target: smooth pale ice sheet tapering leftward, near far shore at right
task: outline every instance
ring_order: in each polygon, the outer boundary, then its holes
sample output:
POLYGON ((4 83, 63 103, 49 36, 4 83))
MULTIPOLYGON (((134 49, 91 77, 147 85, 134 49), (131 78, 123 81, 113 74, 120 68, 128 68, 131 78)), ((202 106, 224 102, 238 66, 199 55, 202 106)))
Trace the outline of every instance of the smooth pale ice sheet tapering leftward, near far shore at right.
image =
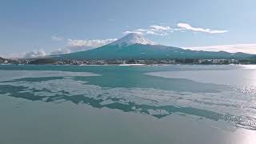
POLYGON ((161 78, 185 78, 196 82, 256 87, 256 70, 160 71, 146 74, 161 78))

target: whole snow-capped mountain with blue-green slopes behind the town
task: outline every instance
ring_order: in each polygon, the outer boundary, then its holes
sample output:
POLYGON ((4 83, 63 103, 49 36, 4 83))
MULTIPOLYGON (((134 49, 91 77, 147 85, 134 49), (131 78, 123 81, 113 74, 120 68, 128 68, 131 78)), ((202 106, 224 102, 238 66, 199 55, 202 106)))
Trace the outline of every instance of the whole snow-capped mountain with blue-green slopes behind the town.
POLYGON ((93 50, 55 55, 59 59, 114 60, 114 59, 163 59, 163 58, 250 58, 252 54, 228 53, 225 51, 185 50, 179 47, 162 46, 143 38, 140 34, 127 34, 115 42, 93 50))

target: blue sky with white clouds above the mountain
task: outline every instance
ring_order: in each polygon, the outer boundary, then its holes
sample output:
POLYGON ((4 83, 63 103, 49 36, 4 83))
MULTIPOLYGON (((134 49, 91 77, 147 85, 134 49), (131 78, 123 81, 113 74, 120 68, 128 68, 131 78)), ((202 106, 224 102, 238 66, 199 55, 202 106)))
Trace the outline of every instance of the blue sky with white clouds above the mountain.
POLYGON ((167 46, 256 53, 255 6, 254 0, 0 0, 0 55, 70 52, 142 30, 167 46))

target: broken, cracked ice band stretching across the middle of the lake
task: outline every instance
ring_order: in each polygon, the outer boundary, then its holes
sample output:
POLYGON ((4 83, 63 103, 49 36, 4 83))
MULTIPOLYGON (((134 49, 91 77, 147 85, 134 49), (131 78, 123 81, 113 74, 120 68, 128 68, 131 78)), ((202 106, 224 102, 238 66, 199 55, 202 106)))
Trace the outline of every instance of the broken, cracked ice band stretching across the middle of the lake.
MULTIPOLYGON (((40 72, 35 72, 34 75, 36 74, 40 72)), ((53 73, 46 72, 45 76, 48 74, 52 76, 53 73)), ((55 75, 64 74, 57 72, 55 75)), ((13 97, 44 102, 86 103, 98 108, 109 107, 150 114, 157 118, 181 112, 214 120, 226 120, 240 127, 256 129, 256 99, 251 94, 236 90, 204 94, 138 87, 110 88, 90 85, 70 78, 70 75, 78 74, 66 73, 68 78, 41 79, 38 82, 22 78, 13 82, 0 82, 0 87, 3 88, 0 89, 0 94, 10 93, 13 97)))

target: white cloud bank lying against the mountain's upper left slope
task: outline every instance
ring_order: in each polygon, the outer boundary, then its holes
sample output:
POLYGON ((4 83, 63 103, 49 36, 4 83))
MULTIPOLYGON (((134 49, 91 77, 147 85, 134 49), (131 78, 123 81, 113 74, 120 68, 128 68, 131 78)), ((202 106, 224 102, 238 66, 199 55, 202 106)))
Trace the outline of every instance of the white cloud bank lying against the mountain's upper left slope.
POLYGON ((91 39, 91 40, 83 40, 83 39, 68 39, 67 46, 58 49, 56 51, 51 52, 51 54, 69 54, 78 51, 91 50, 100 46, 104 46, 109 44, 110 42, 116 41, 116 38, 109 39, 91 39))

